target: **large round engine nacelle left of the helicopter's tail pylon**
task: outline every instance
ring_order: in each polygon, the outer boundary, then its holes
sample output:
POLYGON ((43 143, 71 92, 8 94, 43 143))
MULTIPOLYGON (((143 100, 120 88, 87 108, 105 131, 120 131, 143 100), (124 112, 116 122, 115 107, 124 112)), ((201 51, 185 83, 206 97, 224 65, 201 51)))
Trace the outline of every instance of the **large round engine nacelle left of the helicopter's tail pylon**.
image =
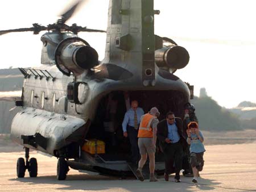
POLYGON ((98 65, 98 53, 85 40, 68 37, 57 45, 55 63, 63 74, 78 76, 98 65))

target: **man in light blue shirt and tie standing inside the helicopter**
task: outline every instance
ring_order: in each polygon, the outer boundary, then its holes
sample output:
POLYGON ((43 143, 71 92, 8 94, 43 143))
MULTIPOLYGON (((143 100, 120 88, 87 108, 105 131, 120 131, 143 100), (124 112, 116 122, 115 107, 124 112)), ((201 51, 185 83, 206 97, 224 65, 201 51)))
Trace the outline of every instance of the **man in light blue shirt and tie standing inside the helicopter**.
POLYGON ((139 148, 138 148, 138 128, 141 122, 141 116, 144 111, 138 107, 138 101, 131 102, 131 108, 125 113, 123 119, 123 136, 129 137, 131 143, 131 162, 136 164, 139 161, 139 148))

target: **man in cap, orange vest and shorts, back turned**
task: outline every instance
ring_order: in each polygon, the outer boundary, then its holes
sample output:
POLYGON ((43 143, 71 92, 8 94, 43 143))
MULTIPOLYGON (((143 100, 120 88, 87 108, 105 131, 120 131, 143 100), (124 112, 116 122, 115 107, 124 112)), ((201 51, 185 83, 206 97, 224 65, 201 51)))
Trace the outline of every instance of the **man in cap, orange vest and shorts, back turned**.
POLYGON ((141 116, 141 123, 139 124, 138 132, 138 146, 139 153, 141 153, 141 160, 139 160, 136 174, 140 181, 144 181, 142 175, 142 168, 147 161, 147 154, 150 159, 150 181, 158 181, 155 178, 155 143, 156 143, 156 127, 159 122, 158 116, 160 112, 158 108, 151 108, 150 112, 141 116))

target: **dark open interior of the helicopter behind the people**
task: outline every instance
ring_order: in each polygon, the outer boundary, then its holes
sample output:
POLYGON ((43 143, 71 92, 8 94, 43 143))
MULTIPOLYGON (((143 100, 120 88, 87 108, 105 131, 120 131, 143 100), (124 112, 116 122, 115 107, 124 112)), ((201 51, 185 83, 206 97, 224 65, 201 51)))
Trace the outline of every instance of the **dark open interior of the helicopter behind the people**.
MULTIPOLYGON (((183 93, 174 90, 112 91, 105 95, 98 104, 96 116, 86 135, 86 139, 105 142, 105 154, 100 155, 105 160, 129 161, 130 142, 128 138, 123 137, 122 121, 128 108, 127 103, 130 104, 134 100, 138 101, 138 107, 143 108, 144 113, 152 107, 157 107, 160 112, 159 120, 166 118, 168 111, 173 111, 175 116, 181 117, 184 103, 187 102, 183 93)), ((160 161, 160 158, 160 155, 159 158, 156 155, 156 161, 160 161)))

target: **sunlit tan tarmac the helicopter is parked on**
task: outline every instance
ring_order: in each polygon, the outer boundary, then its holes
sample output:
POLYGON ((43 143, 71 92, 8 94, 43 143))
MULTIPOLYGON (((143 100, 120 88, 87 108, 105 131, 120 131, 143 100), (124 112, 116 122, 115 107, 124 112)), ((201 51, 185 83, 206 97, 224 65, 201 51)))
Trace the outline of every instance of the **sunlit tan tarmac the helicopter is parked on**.
POLYGON ((256 143, 207 145, 205 166, 197 185, 181 176, 181 183, 144 182, 127 178, 105 177, 68 172, 67 180, 56 179, 57 159, 31 152, 38 160, 38 177, 16 177, 16 160, 24 152, 0 152, 0 191, 256 191, 256 143))

